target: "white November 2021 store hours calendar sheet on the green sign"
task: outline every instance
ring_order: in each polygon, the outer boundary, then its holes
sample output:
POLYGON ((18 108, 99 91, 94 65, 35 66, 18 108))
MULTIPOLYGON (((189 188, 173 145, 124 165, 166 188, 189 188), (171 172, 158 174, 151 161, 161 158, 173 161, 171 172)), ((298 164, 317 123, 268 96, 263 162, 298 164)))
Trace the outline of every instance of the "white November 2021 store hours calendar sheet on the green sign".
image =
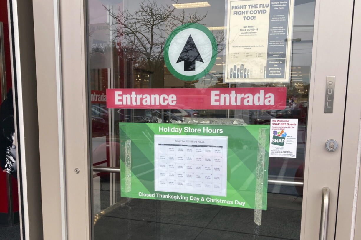
POLYGON ((224 136, 154 135, 155 191, 226 196, 224 136))

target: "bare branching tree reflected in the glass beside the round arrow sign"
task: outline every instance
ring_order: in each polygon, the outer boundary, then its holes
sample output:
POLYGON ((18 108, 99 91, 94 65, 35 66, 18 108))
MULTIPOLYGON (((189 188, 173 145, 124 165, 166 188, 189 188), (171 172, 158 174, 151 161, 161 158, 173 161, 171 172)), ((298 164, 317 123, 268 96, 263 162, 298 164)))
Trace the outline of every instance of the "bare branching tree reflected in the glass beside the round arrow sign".
MULTIPOLYGON (((177 3, 177 1, 173 1, 177 3)), ((106 8, 106 7, 105 7, 106 8)), ((135 11, 106 8, 112 17, 114 41, 117 41, 120 57, 134 61, 134 67, 149 74, 150 87, 164 87, 165 41, 176 27, 184 23, 200 23, 207 13, 201 15, 195 10, 176 13, 172 5, 158 6, 155 0, 142 1, 135 11)), ((223 32, 216 34, 217 42, 223 43, 223 32)), ((218 44, 221 48, 221 45, 218 44)), ((221 49, 219 49, 221 51, 221 49)))

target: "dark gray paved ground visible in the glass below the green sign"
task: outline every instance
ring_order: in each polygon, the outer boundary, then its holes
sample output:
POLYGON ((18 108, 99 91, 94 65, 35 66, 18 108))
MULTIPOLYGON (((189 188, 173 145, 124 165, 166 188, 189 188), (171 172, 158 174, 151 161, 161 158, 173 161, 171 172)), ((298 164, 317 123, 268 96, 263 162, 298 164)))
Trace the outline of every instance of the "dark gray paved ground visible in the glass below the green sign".
POLYGON ((300 238, 301 197, 268 194, 262 225, 253 209, 122 199, 100 214, 95 240, 297 240, 300 238))

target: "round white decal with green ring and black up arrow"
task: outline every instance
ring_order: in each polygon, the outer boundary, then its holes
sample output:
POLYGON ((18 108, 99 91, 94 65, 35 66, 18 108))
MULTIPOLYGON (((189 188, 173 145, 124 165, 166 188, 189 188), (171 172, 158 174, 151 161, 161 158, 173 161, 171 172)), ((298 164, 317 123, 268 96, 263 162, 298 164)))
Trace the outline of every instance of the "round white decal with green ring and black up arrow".
POLYGON ((177 27, 165 42, 164 61, 178 79, 193 81, 208 74, 217 58, 217 41, 199 23, 177 27))

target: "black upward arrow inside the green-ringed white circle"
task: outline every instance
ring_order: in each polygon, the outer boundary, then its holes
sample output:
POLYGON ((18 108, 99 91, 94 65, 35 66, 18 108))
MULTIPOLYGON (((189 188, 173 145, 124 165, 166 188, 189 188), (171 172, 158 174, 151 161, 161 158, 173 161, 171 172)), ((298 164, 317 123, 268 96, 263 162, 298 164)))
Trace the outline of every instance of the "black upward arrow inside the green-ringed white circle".
POLYGON ((186 44, 179 55, 177 63, 184 61, 184 71, 195 71, 196 61, 203 62, 201 54, 199 53, 196 44, 194 43, 192 36, 189 35, 186 44))

